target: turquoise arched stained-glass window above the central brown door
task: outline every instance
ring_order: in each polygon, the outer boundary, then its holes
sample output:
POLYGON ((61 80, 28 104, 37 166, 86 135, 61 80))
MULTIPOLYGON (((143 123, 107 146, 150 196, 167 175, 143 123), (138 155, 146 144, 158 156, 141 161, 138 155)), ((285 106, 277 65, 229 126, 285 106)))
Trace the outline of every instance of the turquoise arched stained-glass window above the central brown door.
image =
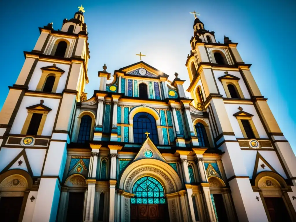
POLYGON ((165 204, 165 192, 163 186, 150 176, 140 178, 133 185, 132 204, 165 204))

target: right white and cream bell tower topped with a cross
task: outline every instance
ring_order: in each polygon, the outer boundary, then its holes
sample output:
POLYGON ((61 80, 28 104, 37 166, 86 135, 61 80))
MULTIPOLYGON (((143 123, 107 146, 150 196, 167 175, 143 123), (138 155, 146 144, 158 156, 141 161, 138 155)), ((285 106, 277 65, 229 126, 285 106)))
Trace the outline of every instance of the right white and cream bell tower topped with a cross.
MULTIPOLYGON (((192 14, 187 91, 194 106, 208 113, 215 148, 224 152, 222 162, 239 221, 268 221, 264 195, 254 189, 260 170, 251 169, 250 163, 256 153, 270 157, 269 164, 279 163, 274 171, 295 190, 295 155, 251 74, 251 64, 240 57, 238 43, 226 36, 217 42, 214 32, 205 29, 196 12, 192 14)), ((293 200, 287 197, 287 202, 293 200)))

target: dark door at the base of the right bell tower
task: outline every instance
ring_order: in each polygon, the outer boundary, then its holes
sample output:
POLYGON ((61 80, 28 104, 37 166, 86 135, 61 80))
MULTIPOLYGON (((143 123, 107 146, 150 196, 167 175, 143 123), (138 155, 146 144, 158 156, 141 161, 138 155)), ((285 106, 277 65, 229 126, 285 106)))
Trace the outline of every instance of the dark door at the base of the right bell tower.
POLYGON ((272 222, 291 221, 282 197, 264 197, 264 200, 272 222))

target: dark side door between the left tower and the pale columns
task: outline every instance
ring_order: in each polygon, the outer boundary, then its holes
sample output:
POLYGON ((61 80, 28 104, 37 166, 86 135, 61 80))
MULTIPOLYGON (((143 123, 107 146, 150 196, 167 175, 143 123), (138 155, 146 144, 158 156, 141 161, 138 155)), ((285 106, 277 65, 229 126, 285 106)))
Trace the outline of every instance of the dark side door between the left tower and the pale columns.
POLYGON ((70 192, 66 222, 81 222, 83 220, 84 192, 70 192))

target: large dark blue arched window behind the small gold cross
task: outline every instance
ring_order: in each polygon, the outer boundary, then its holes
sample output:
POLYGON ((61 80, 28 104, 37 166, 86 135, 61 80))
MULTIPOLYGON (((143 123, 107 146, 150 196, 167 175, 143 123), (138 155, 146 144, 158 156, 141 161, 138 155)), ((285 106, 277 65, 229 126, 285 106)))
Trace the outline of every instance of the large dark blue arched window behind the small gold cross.
POLYGON ((145 132, 150 133, 149 138, 158 144, 156 122, 154 117, 147 112, 138 112, 133 117, 133 142, 143 143, 146 140, 145 132))

